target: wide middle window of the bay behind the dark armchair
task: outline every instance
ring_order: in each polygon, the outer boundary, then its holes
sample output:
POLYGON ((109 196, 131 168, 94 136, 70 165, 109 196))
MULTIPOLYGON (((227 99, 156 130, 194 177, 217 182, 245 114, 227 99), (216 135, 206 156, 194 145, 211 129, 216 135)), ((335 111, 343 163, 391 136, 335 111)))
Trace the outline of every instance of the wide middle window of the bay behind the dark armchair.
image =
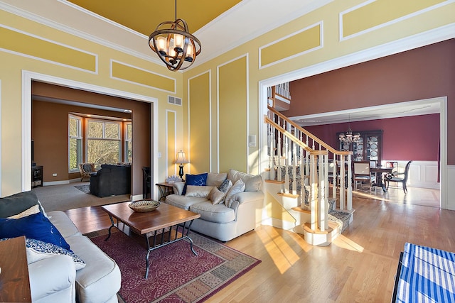
POLYGON ((121 122, 87 120, 87 162, 100 167, 117 163, 122 158, 121 122))

